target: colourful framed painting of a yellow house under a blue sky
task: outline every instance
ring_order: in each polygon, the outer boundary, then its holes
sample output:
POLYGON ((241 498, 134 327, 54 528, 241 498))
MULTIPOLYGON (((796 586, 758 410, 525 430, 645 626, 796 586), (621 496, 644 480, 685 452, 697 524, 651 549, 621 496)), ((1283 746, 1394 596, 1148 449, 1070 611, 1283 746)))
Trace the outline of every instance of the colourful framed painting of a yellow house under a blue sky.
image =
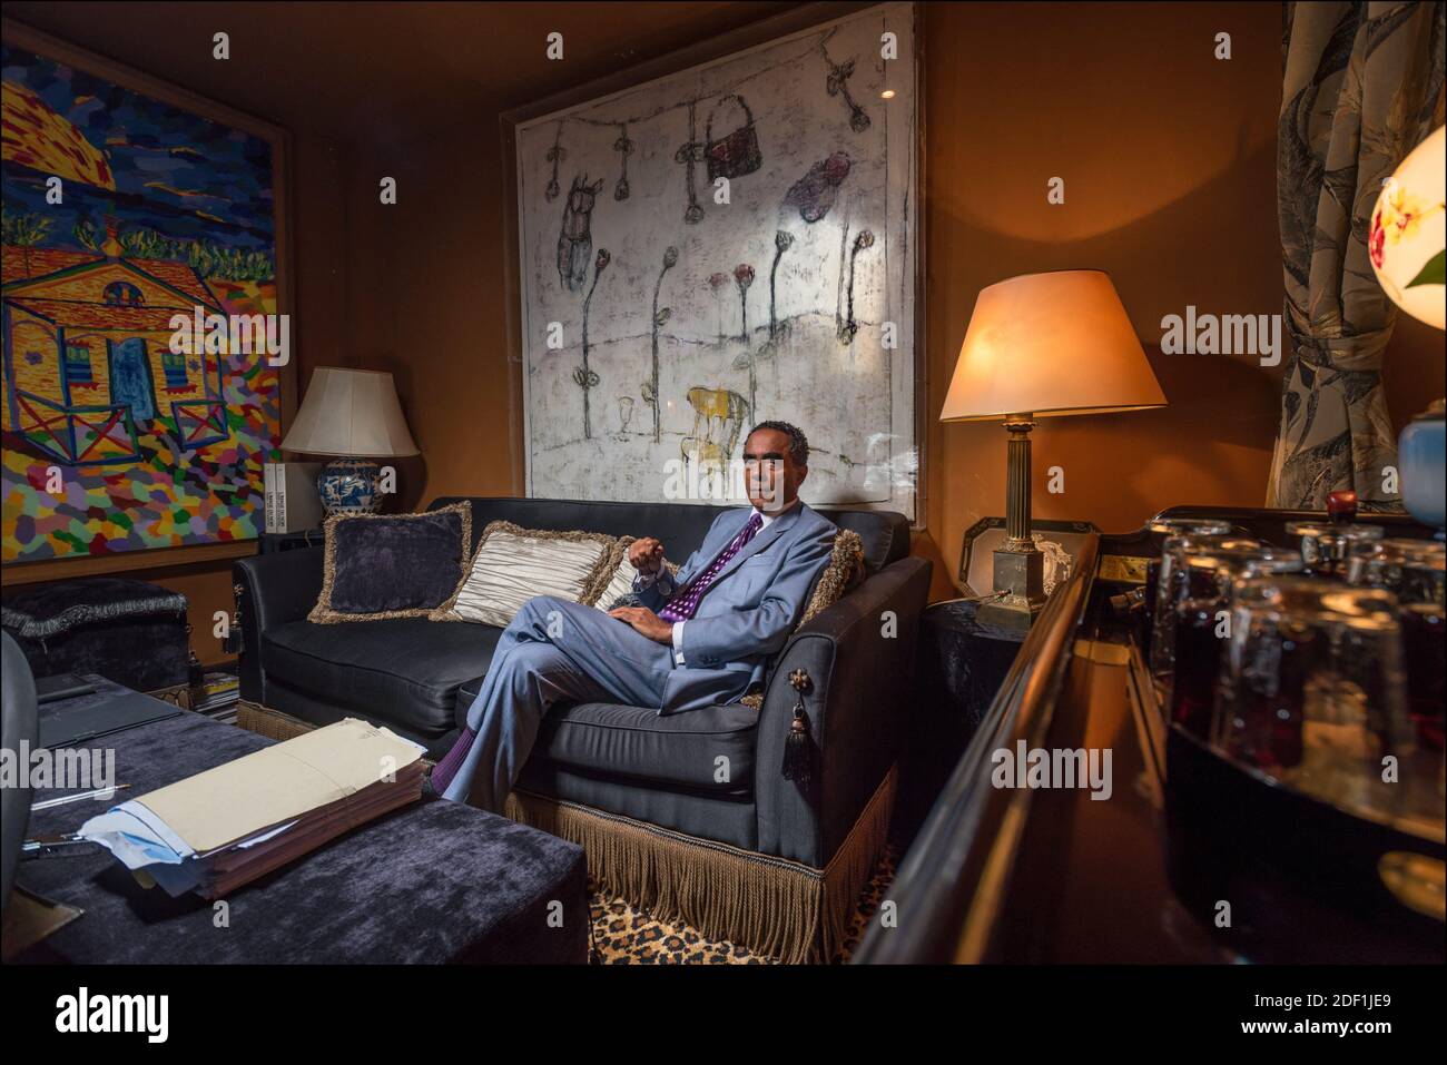
POLYGON ((255 538, 284 133, 13 23, 0 77, 4 561, 255 538))

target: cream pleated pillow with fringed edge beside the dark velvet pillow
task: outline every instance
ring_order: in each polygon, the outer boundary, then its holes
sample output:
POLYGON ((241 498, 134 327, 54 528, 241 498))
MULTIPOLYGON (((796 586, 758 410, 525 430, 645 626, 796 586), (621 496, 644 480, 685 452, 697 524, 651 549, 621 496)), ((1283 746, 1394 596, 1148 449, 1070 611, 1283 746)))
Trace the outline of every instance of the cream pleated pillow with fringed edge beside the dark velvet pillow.
POLYGON ((618 538, 602 532, 560 532, 492 521, 451 598, 428 616, 505 628, 535 595, 592 606, 622 553, 618 538))

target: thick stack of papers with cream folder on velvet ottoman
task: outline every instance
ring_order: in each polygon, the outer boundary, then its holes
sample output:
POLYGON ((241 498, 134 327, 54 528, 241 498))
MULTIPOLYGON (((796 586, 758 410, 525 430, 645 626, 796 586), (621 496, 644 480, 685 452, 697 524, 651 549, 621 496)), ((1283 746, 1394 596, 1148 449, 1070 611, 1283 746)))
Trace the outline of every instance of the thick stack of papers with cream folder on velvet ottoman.
POLYGON ((218 899, 421 799, 423 751, 347 718, 114 806, 77 835, 148 887, 218 899))

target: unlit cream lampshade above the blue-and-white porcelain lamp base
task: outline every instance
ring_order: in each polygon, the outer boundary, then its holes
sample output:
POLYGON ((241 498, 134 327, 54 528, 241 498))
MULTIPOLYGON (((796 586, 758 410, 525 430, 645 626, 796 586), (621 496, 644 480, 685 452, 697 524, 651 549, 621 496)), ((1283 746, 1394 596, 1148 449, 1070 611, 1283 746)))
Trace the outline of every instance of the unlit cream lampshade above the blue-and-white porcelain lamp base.
POLYGON ((391 373, 318 366, 284 451, 392 459, 417 454, 391 373))

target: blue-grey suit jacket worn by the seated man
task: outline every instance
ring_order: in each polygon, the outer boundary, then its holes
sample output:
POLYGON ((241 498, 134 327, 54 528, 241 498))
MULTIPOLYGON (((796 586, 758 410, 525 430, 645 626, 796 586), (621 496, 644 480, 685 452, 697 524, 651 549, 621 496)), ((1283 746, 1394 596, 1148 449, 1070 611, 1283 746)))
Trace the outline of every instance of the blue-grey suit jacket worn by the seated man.
MULTIPOLYGON (((708 569, 752 514, 739 506, 715 518, 703 544, 670 576, 634 582, 638 601, 660 611, 708 569)), ((666 682, 661 713, 737 702, 803 616, 809 592, 833 551, 838 527, 803 501, 768 522, 725 566, 683 628, 683 658, 666 682)))

